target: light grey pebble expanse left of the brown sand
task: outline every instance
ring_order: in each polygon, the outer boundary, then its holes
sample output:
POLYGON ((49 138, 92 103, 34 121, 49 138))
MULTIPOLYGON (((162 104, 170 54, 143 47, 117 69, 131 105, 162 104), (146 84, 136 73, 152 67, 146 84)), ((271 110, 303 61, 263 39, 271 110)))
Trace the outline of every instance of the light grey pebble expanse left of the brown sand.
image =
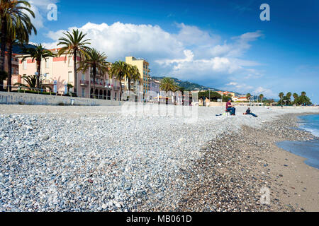
MULTIPOLYGON (((26 112, 32 108, 23 106, 26 112)), ((261 108, 257 119, 215 117, 220 109, 200 107, 198 122, 185 124, 182 117, 123 116, 110 107, 60 109, 0 115, 0 211, 179 210, 193 183, 205 178, 225 195, 213 206, 207 199, 201 205, 221 210, 228 198, 240 200, 250 191, 234 195, 242 183, 218 174, 227 173, 238 155, 232 146, 218 145, 216 137, 243 124, 261 126, 259 119, 270 121, 279 114, 261 108), (95 109, 99 112, 90 112, 95 109), (213 161, 198 162, 206 157, 213 161), (205 174, 206 167, 216 171, 205 174)), ((239 173, 252 171, 241 167, 239 173)))

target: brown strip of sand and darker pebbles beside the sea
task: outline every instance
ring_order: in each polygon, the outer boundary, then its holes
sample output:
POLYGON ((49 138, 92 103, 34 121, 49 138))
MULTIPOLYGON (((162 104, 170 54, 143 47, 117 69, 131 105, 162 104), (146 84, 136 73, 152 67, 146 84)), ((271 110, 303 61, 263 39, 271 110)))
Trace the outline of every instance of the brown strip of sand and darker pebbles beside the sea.
POLYGON ((193 169, 191 189, 177 210, 319 211, 319 169, 276 145, 316 138, 291 128, 298 126, 299 115, 306 114, 285 114, 259 129, 242 126, 239 132, 223 135, 230 138, 226 145, 223 136, 208 142, 205 157, 193 169), (270 190, 269 205, 260 204, 262 187, 270 190))

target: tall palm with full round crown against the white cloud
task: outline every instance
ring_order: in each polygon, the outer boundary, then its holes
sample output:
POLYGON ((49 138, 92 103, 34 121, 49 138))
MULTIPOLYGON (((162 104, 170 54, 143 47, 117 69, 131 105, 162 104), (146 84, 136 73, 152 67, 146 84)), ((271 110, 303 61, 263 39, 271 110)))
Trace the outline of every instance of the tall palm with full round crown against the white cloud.
MULTIPOLYGON (((91 43, 88 42, 90 39, 84 39, 86 34, 79 32, 79 30, 72 30, 72 34, 70 32, 64 32, 63 34, 65 37, 60 37, 59 43, 57 44, 62 45, 62 48, 57 54, 60 57, 67 52, 69 57, 73 56, 74 93, 77 93, 77 54, 79 54, 80 60, 84 58, 91 49, 86 45, 91 43)), ((65 55, 65 60, 66 59, 67 55, 65 55)))

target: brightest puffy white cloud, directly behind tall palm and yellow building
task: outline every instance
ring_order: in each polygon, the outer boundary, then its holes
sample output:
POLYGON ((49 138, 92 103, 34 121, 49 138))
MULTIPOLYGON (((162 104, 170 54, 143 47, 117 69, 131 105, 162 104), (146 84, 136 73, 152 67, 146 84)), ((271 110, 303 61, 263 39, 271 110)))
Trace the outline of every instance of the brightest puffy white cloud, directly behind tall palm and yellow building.
MULTIPOLYGON (((165 32, 157 25, 134 25, 130 23, 86 23, 79 28, 91 39, 91 46, 105 52, 108 59, 116 61, 132 54, 136 57, 161 59, 166 56, 184 56, 183 43, 174 35, 165 32)), ((47 47, 56 47, 59 37, 65 30, 49 32, 48 37, 55 42, 45 43, 47 47)))

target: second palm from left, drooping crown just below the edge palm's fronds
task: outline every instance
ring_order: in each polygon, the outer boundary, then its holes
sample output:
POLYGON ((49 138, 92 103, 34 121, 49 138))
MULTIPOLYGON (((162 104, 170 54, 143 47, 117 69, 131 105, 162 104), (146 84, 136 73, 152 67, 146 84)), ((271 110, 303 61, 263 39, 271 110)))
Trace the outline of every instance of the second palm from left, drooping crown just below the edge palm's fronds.
MULTIPOLYGON (((6 44, 8 46, 8 59, 12 58, 12 48, 14 45, 21 45, 23 47, 24 44, 28 44, 29 35, 31 35, 32 31, 36 34, 36 29, 32 23, 23 24, 17 23, 16 25, 7 26, 8 32, 6 35, 6 44)), ((12 61, 8 60, 8 80, 7 87, 8 90, 11 91, 11 77, 12 77, 12 61)))

